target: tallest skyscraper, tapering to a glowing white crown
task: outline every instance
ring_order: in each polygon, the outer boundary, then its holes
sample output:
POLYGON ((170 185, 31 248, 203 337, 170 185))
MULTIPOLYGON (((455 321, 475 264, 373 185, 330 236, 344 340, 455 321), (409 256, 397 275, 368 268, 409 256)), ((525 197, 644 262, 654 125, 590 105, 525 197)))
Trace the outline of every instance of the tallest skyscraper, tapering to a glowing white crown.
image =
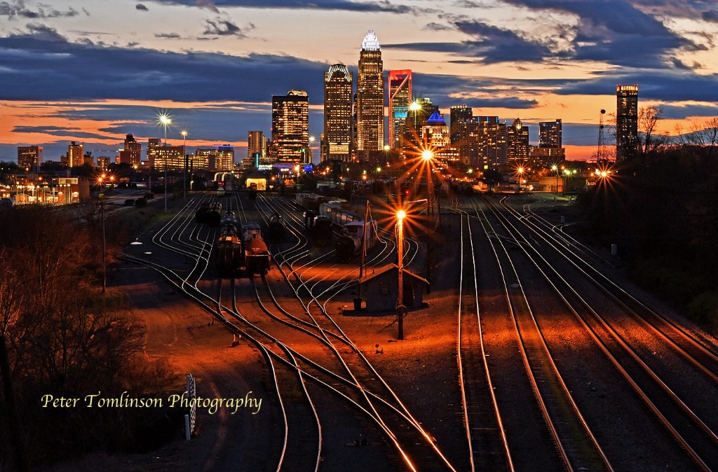
POLYGON ((366 161, 384 149, 384 76, 379 40, 368 31, 359 52, 356 98, 357 156, 366 161))

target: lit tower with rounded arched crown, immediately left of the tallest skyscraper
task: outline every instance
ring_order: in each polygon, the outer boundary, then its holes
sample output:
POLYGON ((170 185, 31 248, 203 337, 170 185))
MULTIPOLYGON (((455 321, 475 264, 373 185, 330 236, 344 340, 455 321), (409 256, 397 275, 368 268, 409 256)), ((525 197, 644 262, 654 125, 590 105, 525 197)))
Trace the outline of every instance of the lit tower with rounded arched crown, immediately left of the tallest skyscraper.
POLYGON ((335 64, 324 73, 322 161, 350 161, 352 141, 352 73, 335 64))

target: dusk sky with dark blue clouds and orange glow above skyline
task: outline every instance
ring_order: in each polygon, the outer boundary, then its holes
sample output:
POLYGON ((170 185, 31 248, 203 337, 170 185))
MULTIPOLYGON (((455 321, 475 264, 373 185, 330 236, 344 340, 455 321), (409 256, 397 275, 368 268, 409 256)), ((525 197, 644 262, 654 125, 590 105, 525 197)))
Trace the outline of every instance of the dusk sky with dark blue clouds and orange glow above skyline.
MULTIPOLYGON (((368 29, 384 70, 411 69, 414 95, 446 118, 515 118, 538 141, 561 118, 569 159, 595 153, 600 110, 617 84, 663 107, 660 133, 718 115, 718 2, 693 0, 10 0, 0 1, 0 160, 70 141, 115 156, 126 133, 146 148, 271 136, 271 95, 306 90, 309 133, 322 133, 323 80, 348 65, 356 82, 368 29)), ((606 120, 610 118, 606 115, 606 120)), ((318 144, 315 156, 318 155, 318 144)))

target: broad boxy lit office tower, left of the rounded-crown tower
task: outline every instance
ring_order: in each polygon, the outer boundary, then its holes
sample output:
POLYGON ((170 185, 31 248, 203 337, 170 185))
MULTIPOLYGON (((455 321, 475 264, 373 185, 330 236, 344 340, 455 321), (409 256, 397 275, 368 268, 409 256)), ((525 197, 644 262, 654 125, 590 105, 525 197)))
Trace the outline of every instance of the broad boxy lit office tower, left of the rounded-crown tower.
POLYGON ((309 98, 304 90, 272 95, 271 141, 277 161, 308 162, 309 98))

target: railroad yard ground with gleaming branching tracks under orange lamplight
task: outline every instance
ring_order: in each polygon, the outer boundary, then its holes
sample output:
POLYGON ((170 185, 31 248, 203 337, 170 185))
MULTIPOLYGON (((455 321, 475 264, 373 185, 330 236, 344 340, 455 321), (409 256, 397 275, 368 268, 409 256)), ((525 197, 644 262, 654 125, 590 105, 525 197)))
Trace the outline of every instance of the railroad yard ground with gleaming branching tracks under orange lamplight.
POLYGON ((569 204, 442 197, 440 212, 409 212, 398 258, 393 210, 371 201, 376 241, 360 269, 360 255, 337 255, 342 227, 307 229, 294 198, 173 202, 123 248, 108 286, 143 316, 148 357, 192 373, 200 397, 242 407, 198 407, 189 442, 86 467, 718 470, 716 339, 575 240, 569 204), (211 204, 215 222, 197 216, 211 204), (264 235, 248 235, 251 222, 264 235), (430 283, 403 340, 396 314, 358 288, 360 270, 398 260, 404 278, 430 283))

